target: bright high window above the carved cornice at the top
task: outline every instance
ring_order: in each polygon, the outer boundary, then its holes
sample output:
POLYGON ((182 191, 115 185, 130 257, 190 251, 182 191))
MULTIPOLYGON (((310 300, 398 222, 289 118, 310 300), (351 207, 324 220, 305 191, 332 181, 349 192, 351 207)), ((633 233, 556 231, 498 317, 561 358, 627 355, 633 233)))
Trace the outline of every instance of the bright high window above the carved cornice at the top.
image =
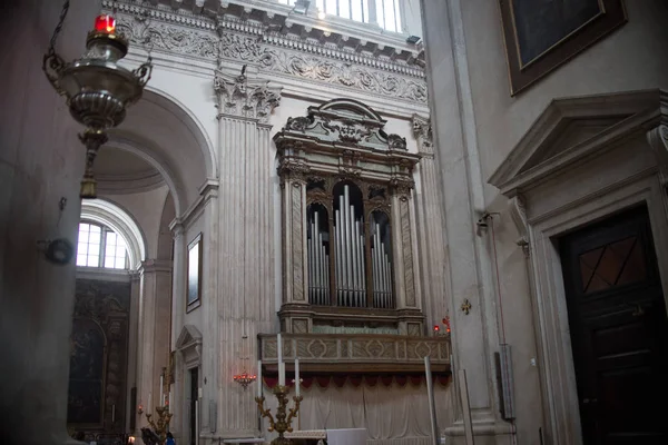
MULTIPOLYGON (((376 22, 381 28, 392 32, 402 32, 401 0, 316 0, 318 11, 327 16, 338 16, 344 19, 363 23, 376 22)), ((278 0, 284 4, 294 6, 296 0, 278 0)))

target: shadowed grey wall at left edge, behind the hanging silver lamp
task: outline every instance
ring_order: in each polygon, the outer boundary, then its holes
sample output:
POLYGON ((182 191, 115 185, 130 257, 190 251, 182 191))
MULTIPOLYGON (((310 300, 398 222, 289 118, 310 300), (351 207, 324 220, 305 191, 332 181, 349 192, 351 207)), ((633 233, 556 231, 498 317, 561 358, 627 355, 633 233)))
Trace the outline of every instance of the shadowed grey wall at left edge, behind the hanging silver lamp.
MULTIPOLYGON (((2 7, 0 50, 0 436, 3 444, 65 443, 73 261, 48 263, 37 241, 76 246, 85 149, 41 70, 61 2, 2 7), (59 214, 58 202, 67 207, 59 214)), ((99 1, 73 0, 58 43, 81 55, 99 1)))

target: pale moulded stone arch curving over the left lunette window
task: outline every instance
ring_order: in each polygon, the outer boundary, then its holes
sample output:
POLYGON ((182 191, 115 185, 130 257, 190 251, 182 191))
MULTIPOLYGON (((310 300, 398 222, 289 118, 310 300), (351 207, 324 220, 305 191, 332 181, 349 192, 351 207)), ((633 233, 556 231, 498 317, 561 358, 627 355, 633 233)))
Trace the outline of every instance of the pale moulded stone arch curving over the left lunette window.
POLYGON ((137 270, 146 259, 146 238, 139 225, 124 209, 105 199, 84 199, 81 219, 91 220, 111 228, 126 243, 130 269, 137 270))

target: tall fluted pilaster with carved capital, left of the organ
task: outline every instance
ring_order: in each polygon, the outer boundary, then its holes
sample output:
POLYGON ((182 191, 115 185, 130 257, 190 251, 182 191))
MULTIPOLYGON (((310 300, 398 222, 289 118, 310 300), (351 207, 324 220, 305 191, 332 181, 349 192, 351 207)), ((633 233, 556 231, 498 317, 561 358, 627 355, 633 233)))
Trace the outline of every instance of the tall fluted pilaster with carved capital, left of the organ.
MULTIPOLYGON (((215 76, 218 106, 220 186, 216 322, 214 342, 220 364, 217 383, 204 385, 204 397, 217 399, 216 437, 252 437, 257 432, 254 387, 244 389, 233 376, 246 368, 256 372, 257 334, 268 333, 275 317, 274 227, 272 184, 275 152, 268 119, 278 106, 281 89, 257 78, 218 70, 215 76), (214 394, 217 393, 217 394, 214 394)), ((209 323, 213 323, 209 320, 209 323)), ((255 384, 254 384, 255 385, 255 384)), ((216 441, 217 443, 217 441, 216 441)))

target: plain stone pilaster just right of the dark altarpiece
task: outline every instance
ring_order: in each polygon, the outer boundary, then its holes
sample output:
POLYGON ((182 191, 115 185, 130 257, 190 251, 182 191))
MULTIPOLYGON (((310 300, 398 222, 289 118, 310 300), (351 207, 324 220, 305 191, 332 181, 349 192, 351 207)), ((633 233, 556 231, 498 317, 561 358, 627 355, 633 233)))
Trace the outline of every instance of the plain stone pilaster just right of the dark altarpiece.
MULTIPOLYGON (((160 406, 160 374, 169 360, 169 323, 171 312, 171 261, 148 259, 141 263, 139 342, 137 345, 137 399, 145 413, 160 406), (149 399, 153 406, 149 406, 149 399)), ((140 417, 137 429, 146 426, 140 417)))

